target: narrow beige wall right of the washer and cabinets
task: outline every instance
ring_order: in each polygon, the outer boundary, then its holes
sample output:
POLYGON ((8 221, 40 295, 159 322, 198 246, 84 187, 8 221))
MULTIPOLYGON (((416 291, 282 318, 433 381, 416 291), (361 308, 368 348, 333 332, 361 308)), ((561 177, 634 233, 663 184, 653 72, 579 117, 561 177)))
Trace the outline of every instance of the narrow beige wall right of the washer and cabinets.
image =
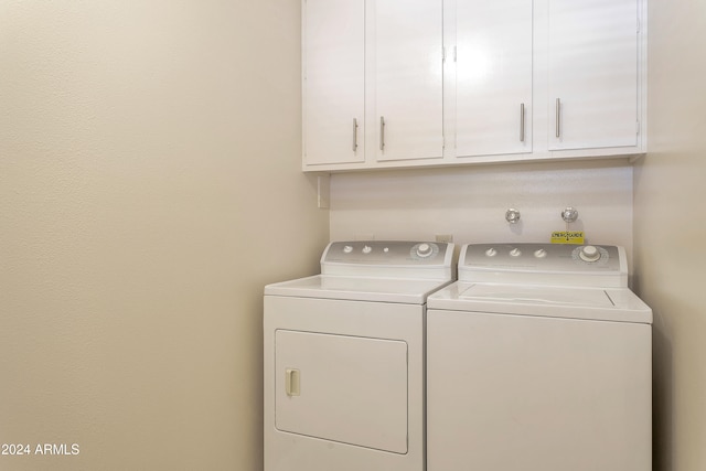
POLYGON ((635 165, 635 288, 654 310, 655 470, 706 469, 706 6, 650 3, 650 152, 635 165))

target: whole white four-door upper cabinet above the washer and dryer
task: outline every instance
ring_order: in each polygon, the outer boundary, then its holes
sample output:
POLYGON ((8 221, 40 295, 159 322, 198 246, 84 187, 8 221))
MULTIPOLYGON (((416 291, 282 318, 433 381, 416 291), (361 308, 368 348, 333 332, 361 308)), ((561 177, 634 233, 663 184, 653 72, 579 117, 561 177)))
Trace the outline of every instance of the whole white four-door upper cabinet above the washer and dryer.
POLYGON ((648 0, 302 0, 303 169, 646 151, 648 0))

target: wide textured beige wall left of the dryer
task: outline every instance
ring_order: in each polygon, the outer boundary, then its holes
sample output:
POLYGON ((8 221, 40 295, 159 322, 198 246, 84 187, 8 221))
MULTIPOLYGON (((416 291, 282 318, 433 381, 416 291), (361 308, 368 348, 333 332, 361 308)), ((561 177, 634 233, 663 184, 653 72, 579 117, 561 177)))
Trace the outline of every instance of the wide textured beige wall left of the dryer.
POLYGON ((297 1, 0 1, 0 456, 261 469, 261 290, 328 242, 297 1), (297 250, 295 250, 295 248, 297 250))

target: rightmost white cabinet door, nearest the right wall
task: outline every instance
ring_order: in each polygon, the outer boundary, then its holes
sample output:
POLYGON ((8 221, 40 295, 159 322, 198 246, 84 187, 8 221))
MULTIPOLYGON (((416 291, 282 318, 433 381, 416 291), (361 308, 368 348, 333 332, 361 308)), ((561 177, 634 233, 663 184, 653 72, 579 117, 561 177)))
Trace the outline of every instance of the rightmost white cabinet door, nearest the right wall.
POLYGON ((549 149, 638 143, 638 0, 549 0, 549 149))

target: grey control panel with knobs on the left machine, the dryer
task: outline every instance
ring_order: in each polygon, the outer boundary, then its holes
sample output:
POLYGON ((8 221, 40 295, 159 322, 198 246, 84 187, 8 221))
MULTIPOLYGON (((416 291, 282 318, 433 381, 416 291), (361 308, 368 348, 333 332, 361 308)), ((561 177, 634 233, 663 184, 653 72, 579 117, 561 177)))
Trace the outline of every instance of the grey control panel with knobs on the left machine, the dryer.
POLYGON ((334 242, 330 244, 321 263, 397 266, 441 265, 447 259, 448 249, 449 244, 437 242, 334 242))

